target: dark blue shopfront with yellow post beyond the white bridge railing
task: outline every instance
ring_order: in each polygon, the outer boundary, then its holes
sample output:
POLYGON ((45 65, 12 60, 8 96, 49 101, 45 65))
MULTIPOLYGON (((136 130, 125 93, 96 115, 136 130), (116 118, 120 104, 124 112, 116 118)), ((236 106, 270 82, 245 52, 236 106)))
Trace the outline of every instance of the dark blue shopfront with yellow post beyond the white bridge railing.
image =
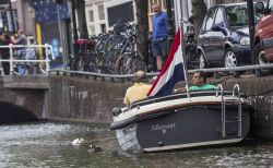
POLYGON ((39 44, 52 45, 54 60, 67 63, 70 51, 71 16, 69 3, 55 3, 54 0, 33 0, 36 32, 39 44))

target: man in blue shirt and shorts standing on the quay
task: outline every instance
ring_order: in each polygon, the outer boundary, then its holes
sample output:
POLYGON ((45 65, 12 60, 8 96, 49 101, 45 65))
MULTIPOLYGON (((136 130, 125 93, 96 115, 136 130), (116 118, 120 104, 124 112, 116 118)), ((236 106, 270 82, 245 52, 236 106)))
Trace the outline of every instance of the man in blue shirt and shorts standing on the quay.
POLYGON ((161 71, 163 62, 167 58, 167 13, 162 11, 158 3, 153 3, 152 9, 155 13, 153 16, 152 50, 153 56, 156 57, 157 71, 161 71))

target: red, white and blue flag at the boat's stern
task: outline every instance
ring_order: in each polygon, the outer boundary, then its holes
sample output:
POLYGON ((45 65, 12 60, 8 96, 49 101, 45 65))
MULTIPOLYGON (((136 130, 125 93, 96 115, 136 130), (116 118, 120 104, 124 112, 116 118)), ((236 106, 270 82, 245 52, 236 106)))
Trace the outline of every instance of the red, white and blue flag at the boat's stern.
POLYGON ((166 96, 173 93, 176 83, 185 80, 180 28, 178 29, 168 59, 147 96, 166 96))

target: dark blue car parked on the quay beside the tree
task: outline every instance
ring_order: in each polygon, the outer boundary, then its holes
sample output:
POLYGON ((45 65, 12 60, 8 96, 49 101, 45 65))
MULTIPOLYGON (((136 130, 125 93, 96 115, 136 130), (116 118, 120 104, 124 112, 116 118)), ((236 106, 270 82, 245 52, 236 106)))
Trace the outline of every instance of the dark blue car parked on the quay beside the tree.
MULTIPOLYGON (((256 21, 260 15, 256 15, 256 21)), ((229 3, 207 10, 198 36, 200 69, 233 68, 251 63, 247 3, 229 3)))

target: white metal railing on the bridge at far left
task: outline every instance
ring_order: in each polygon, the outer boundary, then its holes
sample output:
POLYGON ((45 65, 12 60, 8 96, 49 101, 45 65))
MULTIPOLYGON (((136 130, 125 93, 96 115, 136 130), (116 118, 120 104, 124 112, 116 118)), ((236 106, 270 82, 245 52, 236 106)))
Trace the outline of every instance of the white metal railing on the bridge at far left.
MULTIPOLYGON (((13 44, 10 44, 9 46, 0 46, 0 49, 2 48, 9 48, 10 50, 10 59, 0 59, 0 63, 2 62, 10 62, 10 75, 14 74, 14 65, 16 65, 16 63, 19 62, 24 62, 24 63, 31 63, 31 62, 34 62, 34 63, 45 63, 46 64, 46 73, 48 74, 49 72, 49 68, 50 68, 50 59, 49 59, 49 55, 54 57, 54 51, 52 51, 52 46, 51 45, 48 45, 48 44, 45 44, 45 45, 27 45, 27 46, 24 46, 24 45, 13 45, 13 44), (45 49, 45 58, 39 58, 39 55, 38 52, 36 52, 36 55, 38 56, 38 58, 36 59, 25 59, 25 58, 22 58, 22 59, 16 59, 17 57, 14 57, 16 56, 14 53, 15 50, 19 50, 19 49, 23 49, 25 48, 26 50, 29 49, 29 48, 44 48, 45 49)), ((1 67, 2 69, 2 67, 1 67)), ((3 71, 3 70, 1 70, 3 71)), ((2 72, 3 74, 3 72, 2 72)))

